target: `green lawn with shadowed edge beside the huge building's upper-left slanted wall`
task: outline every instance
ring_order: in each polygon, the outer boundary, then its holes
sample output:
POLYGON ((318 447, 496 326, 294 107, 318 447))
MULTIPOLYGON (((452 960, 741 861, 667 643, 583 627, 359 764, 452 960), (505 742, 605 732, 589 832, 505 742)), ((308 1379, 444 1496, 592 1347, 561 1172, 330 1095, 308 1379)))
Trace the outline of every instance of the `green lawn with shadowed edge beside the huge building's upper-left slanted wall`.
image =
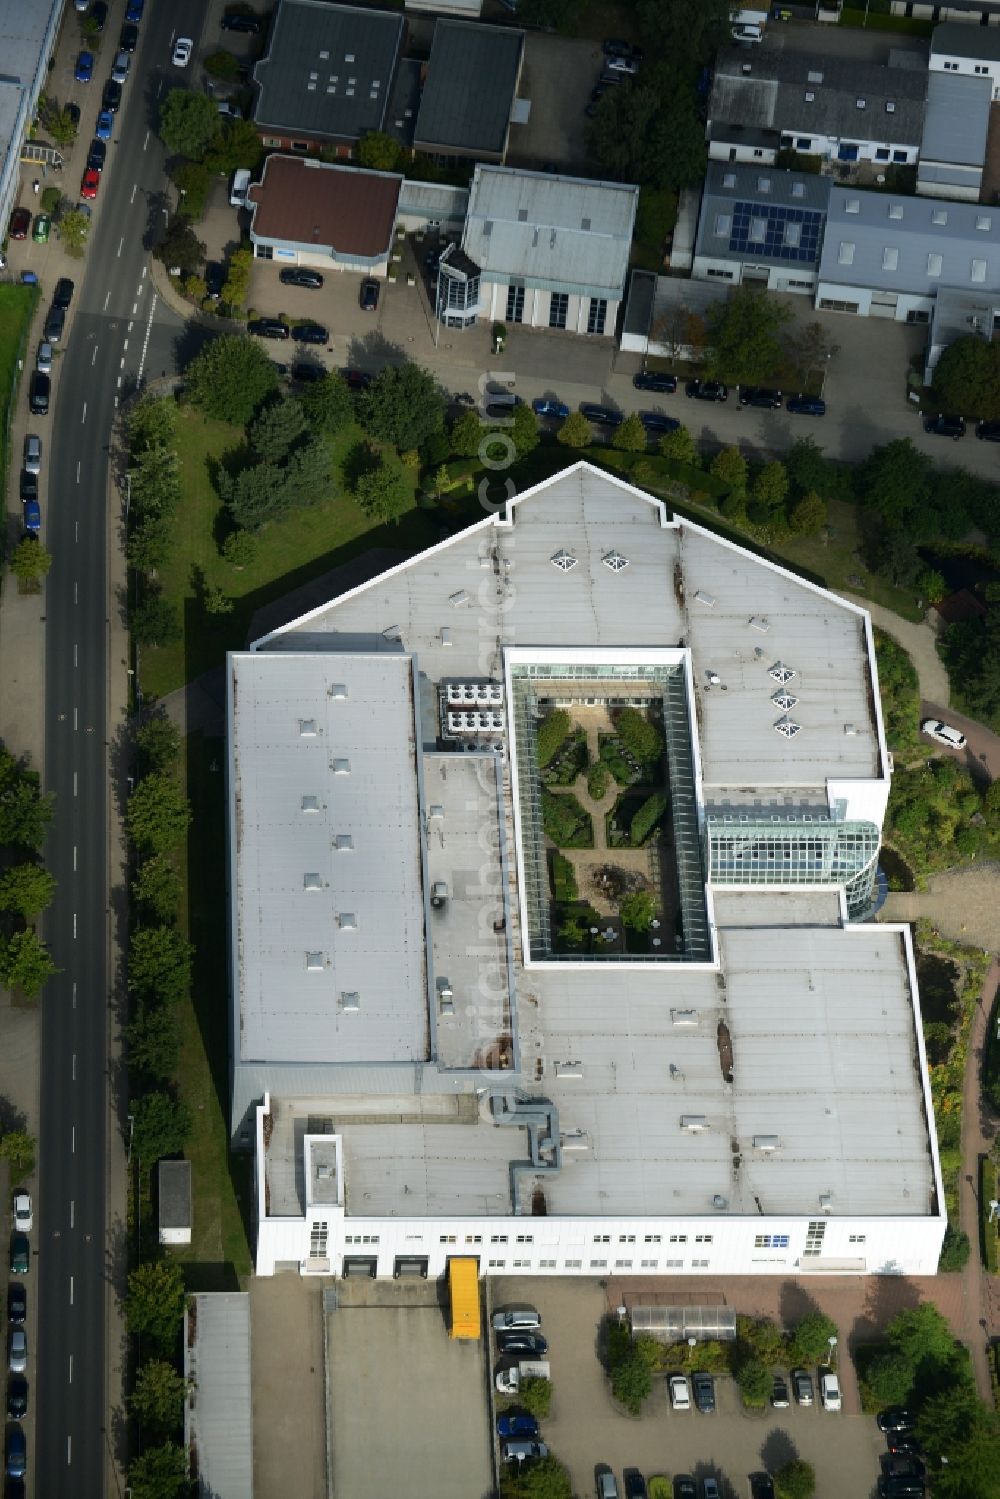
POLYGON ((214 465, 240 447, 243 433, 202 417, 192 406, 177 411, 183 501, 177 513, 174 552, 162 570, 163 594, 178 612, 183 636, 175 645, 142 649, 142 691, 163 697, 208 667, 220 666, 226 651, 246 645, 253 612, 291 589, 370 547, 418 552, 438 540, 441 517, 408 510, 397 525, 372 525, 354 501, 339 493, 339 469, 361 441, 351 429, 334 448, 334 498, 309 510, 292 511, 261 535, 255 561, 234 570, 219 552, 225 513, 211 484, 214 465), (208 615, 201 603, 205 586, 222 588, 235 603, 231 615, 208 615))

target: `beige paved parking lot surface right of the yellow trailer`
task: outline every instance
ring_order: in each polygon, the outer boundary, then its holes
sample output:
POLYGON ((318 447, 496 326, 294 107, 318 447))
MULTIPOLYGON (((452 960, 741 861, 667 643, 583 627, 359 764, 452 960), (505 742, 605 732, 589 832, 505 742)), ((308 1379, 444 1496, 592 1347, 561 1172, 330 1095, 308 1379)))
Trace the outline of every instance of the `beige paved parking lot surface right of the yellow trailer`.
POLYGON ((595 1492, 595 1471, 607 1465, 618 1475, 639 1468, 700 1480, 714 1475, 724 1499, 745 1499, 747 1478, 762 1468, 774 1472, 792 1457, 816 1469, 817 1499, 862 1499, 876 1493, 879 1454, 885 1441, 871 1417, 828 1414, 814 1405, 747 1414, 729 1378, 715 1382, 717 1411, 672 1412, 667 1382, 657 1376, 642 1417, 628 1417, 610 1397, 598 1360, 601 1319, 607 1303, 595 1282, 499 1280, 493 1303, 535 1306, 543 1316, 552 1364, 552 1417, 543 1439, 564 1462, 574 1493, 595 1492))

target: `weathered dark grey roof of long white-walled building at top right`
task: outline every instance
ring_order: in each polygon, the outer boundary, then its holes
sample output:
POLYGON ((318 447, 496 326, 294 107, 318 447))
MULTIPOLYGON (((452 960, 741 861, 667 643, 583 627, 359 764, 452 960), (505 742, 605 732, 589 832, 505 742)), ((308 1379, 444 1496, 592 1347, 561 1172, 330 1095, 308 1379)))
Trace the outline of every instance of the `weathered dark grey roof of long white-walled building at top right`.
POLYGON ((729 121, 741 130, 916 145, 925 93, 924 67, 729 48, 715 61, 708 118, 714 138, 723 138, 720 121, 729 121))

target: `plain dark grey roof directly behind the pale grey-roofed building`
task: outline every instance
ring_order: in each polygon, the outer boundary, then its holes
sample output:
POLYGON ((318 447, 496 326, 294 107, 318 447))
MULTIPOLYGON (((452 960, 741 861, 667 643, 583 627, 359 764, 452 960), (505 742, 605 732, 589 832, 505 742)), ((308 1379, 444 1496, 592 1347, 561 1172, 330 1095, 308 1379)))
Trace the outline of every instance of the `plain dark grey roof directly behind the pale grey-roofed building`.
POLYGON ((502 156, 523 51, 511 27, 438 19, 414 145, 502 156))

